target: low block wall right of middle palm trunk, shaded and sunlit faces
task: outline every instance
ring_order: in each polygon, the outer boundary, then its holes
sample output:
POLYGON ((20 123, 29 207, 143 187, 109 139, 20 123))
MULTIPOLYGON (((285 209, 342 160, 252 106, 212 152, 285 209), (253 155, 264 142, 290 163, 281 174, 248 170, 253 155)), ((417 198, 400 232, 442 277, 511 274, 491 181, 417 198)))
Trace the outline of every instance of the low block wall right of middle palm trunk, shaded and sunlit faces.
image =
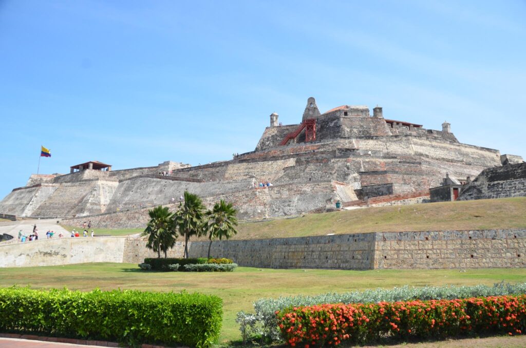
MULTIPOLYGON (((206 257, 209 242, 191 242, 206 257)), ((210 255, 241 266, 318 269, 464 269, 526 267, 526 230, 377 232, 214 241, 210 255), (371 262, 372 261, 372 262, 371 262)))

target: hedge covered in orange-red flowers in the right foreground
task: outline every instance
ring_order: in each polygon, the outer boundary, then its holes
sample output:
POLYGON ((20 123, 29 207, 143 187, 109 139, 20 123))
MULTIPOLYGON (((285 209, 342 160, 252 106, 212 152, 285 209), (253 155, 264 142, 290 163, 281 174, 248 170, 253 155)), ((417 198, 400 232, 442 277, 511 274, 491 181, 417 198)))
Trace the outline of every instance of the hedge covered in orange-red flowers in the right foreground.
POLYGON ((367 343, 380 337, 443 338, 471 333, 521 334, 526 295, 461 300, 321 304, 276 312, 290 346, 367 343))

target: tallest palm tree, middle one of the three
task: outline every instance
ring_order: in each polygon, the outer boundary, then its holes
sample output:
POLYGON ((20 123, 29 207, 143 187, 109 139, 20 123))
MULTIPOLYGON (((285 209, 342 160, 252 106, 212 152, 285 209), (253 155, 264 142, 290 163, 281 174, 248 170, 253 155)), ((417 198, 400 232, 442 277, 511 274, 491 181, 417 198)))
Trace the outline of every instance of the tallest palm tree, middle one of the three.
POLYGON ((185 258, 188 258, 188 240, 191 236, 200 237, 205 233, 205 206, 197 195, 185 191, 185 202, 179 203, 175 220, 179 233, 185 236, 185 258))

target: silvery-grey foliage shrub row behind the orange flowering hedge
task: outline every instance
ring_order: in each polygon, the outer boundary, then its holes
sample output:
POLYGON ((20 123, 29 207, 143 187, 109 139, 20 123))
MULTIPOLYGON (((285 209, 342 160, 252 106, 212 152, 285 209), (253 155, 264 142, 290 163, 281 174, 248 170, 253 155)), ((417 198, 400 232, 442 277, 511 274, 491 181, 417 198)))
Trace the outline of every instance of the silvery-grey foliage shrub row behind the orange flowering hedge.
MULTIPOLYGON (((244 313, 244 315, 255 315, 261 325, 262 335, 270 341, 280 340, 279 329, 276 320, 276 311, 281 311, 290 306, 310 306, 325 303, 376 303, 396 302, 409 300, 452 300, 466 299, 477 296, 502 296, 526 293, 526 283, 510 284, 497 283, 493 286, 402 286, 393 289, 375 289, 366 291, 353 291, 346 293, 326 293, 317 296, 293 296, 280 297, 278 299, 260 299, 254 302, 256 314, 244 313)), ((241 312, 239 312, 241 313, 241 312)), ((239 316, 238 313, 238 316, 239 316)))

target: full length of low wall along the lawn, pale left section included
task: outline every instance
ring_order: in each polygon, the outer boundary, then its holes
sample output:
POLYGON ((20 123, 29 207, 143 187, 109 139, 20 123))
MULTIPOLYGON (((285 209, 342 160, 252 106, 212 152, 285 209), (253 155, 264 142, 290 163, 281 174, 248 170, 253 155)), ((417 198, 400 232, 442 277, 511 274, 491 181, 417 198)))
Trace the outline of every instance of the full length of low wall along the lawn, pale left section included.
MULTIPOLYGON (((190 242, 207 257, 208 241, 190 242)), ((168 257, 183 257, 177 242, 168 257)), ((161 255, 161 257, 164 255, 161 255)), ((313 269, 465 269, 526 267, 526 229, 376 232, 297 238, 214 241, 211 257, 246 267, 313 269)), ((0 267, 83 262, 141 263, 157 254, 145 237, 53 238, 0 245, 0 267)))

